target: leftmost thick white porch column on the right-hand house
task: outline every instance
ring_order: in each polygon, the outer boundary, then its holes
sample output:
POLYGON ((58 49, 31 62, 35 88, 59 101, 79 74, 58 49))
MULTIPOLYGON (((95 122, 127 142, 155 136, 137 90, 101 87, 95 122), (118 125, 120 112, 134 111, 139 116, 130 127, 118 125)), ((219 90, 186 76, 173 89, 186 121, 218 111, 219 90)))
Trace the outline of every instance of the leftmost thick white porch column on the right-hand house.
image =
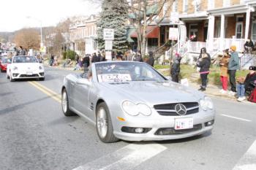
POLYGON ((214 50, 214 23, 215 23, 215 17, 209 16, 208 17, 208 33, 207 33, 207 45, 208 51, 214 50))

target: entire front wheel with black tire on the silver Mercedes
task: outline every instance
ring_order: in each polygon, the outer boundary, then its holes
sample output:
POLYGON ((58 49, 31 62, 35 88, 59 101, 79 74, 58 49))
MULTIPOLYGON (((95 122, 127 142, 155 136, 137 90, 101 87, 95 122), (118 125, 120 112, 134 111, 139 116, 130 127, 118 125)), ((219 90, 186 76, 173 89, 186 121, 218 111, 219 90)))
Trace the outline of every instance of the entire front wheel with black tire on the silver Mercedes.
POLYGON ((97 105, 96 128, 99 139, 105 143, 117 142, 118 138, 113 134, 113 125, 107 104, 104 102, 97 105))

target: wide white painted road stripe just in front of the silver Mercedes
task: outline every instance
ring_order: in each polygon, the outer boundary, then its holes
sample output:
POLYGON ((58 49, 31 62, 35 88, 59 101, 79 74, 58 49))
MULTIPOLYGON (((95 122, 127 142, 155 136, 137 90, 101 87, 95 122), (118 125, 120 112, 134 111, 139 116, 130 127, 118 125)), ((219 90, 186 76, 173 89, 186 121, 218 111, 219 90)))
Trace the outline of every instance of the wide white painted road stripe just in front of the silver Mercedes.
POLYGON ((156 143, 129 144, 116 152, 105 155, 102 158, 98 158, 95 161, 86 163, 72 170, 135 169, 140 163, 147 161, 166 149, 167 147, 156 143))

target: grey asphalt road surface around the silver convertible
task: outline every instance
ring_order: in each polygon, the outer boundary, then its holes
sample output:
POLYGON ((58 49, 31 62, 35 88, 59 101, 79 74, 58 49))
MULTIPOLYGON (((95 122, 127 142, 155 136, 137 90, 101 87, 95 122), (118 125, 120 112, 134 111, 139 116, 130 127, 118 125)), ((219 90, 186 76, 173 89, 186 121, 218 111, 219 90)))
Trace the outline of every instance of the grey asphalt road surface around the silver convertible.
POLYGON ((104 144, 93 125, 62 114, 61 85, 72 71, 45 69, 45 81, 0 73, 0 170, 256 169, 256 104, 212 98, 216 123, 203 136, 104 144))

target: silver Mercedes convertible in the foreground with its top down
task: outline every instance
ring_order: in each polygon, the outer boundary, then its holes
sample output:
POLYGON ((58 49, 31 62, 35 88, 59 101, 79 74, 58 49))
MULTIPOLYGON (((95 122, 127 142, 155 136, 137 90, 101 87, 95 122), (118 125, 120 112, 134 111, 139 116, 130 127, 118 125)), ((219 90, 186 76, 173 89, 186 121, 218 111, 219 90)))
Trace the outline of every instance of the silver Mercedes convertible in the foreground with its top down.
POLYGON ((211 131, 211 98, 167 80, 146 63, 92 63, 68 74, 61 89, 64 115, 96 126, 102 142, 181 139, 211 131))

